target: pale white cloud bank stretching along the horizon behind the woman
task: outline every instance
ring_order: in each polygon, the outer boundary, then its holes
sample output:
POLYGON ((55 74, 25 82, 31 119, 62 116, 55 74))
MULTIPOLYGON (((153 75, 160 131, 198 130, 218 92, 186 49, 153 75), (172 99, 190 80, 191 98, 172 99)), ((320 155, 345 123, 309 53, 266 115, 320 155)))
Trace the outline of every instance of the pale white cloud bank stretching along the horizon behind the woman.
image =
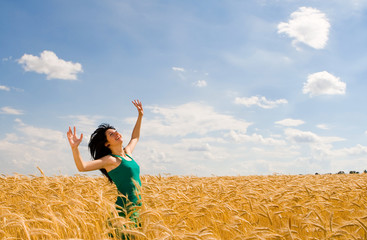
MULTIPOLYGON (((272 137, 248 134, 250 123, 218 113, 203 103, 145 109, 143 137, 134 152, 142 174, 298 174, 337 172, 351 166, 352 170, 358 170, 367 152, 362 145, 334 149, 332 143, 343 139, 293 128, 272 137), (346 159, 351 165, 343 165, 346 159)), ((94 129, 100 117, 64 118, 76 122, 80 128, 94 129)), ((126 120, 132 125, 136 117, 126 120)), ((18 170, 37 173, 36 166, 46 174, 77 173, 64 130, 31 126, 20 119, 15 122, 14 132, 0 139, 0 158, 9 159, 3 166, 7 173, 18 170)), ((89 160, 87 147, 81 145, 80 150, 83 158, 89 160)))

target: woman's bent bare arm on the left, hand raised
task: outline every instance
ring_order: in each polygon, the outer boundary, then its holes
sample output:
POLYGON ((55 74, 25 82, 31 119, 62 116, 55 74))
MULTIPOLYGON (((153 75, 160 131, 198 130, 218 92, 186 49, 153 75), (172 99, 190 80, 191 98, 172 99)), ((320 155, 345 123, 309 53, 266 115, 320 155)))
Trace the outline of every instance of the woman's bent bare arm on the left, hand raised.
POLYGON ((74 133, 71 131, 69 127, 69 131, 67 132, 67 137, 69 140, 69 144, 71 147, 71 151, 73 152, 73 157, 75 161, 75 165, 78 168, 79 172, 86 172, 86 171, 93 171, 98 170, 105 167, 105 162, 103 159, 97 159, 94 161, 83 161, 82 156, 80 155, 79 151, 79 144, 82 142, 83 134, 80 135, 80 138, 76 136, 75 127, 74 133))

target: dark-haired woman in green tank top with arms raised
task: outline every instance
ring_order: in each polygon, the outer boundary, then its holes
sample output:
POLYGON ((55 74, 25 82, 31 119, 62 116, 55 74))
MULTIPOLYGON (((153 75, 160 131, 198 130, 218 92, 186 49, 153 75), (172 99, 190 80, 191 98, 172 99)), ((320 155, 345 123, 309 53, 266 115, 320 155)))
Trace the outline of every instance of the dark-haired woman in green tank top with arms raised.
POLYGON ((134 208, 140 205, 137 189, 141 185, 140 168, 131 156, 139 141, 144 111, 139 100, 134 100, 132 103, 137 108, 139 115, 131 140, 125 148, 122 145, 122 135, 114 127, 108 124, 101 124, 91 135, 88 144, 94 161, 83 161, 78 149, 83 139, 83 134, 78 138, 75 127, 74 132, 69 127, 67 137, 78 170, 80 172, 101 170, 111 183, 116 184, 118 191, 123 195, 118 196, 116 201, 118 209, 122 210, 119 211, 119 215, 126 217, 127 213, 130 215, 131 220, 137 222, 138 213, 134 208))

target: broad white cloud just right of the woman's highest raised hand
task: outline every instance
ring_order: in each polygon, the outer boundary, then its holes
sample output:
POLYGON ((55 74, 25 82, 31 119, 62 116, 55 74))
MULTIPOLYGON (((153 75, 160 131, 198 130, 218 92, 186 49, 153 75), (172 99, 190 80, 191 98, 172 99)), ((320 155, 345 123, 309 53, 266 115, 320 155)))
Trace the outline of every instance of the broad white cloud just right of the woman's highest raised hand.
MULTIPOLYGON (((186 103, 176 107, 150 107, 156 114, 153 119, 145 119, 142 128, 145 134, 155 136, 186 136, 189 134, 204 135, 216 131, 236 130, 246 132, 251 124, 236 119, 231 115, 214 111, 211 106, 202 103, 186 103)), ((130 122, 135 118, 128 119, 130 122)))

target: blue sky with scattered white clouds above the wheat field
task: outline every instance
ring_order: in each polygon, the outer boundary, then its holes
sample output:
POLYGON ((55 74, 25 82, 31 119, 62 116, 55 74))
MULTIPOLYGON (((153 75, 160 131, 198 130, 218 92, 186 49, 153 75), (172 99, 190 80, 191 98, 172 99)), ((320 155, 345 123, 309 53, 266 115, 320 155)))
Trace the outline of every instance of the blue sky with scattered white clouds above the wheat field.
MULTIPOLYGON (((367 1, 1 1, 2 174, 77 173, 104 122, 142 174, 367 169, 367 1)), ((94 172, 91 174, 99 174, 94 172)))

